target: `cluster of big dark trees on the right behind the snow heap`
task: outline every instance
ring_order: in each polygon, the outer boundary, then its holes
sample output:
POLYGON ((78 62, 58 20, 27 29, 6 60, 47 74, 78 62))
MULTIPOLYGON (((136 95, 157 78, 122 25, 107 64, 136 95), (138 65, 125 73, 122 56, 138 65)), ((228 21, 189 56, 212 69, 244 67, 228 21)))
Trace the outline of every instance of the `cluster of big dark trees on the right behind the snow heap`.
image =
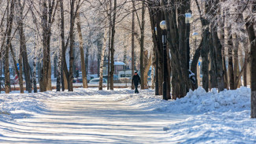
MULTIPOLYGON (((191 35, 186 35, 184 13, 193 13, 194 32, 201 34, 201 42, 195 47, 191 59, 191 71, 196 74, 199 57, 202 57, 202 87, 208 91, 217 88, 234 90, 242 85, 247 86, 247 65, 250 64, 250 87, 252 111, 255 115, 255 1, 180 1, 161 0, 147 1, 151 18, 152 30, 158 30, 161 20, 166 20, 169 76, 172 73, 173 98, 182 98, 189 89, 195 89, 189 79, 187 61, 187 40, 191 35), (226 64, 228 62, 228 64, 226 64), (228 68, 226 67, 228 65, 228 68)), ((162 31, 154 31, 154 47, 161 57, 162 31)), ((162 72, 162 60, 158 59, 158 72, 162 72)), ((166 81, 169 81, 169 76, 166 81)), ((161 76, 158 79, 162 79, 161 76)), ((169 89, 169 86, 167 86, 169 89)), ((170 97, 169 97, 170 98, 170 97)))

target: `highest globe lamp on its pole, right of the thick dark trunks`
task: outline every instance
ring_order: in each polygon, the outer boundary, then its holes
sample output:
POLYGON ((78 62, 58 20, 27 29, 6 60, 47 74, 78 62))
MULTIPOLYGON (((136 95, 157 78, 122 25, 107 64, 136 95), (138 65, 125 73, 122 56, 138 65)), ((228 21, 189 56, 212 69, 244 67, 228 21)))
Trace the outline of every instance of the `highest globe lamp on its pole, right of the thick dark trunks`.
POLYGON ((189 61, 190 61, 190 47, 189 47, 189 31, 190 31, 190 24, 192 20, 191 13, 185 13, 185 23, 187 24, 187 69, 189 69, 189 61))

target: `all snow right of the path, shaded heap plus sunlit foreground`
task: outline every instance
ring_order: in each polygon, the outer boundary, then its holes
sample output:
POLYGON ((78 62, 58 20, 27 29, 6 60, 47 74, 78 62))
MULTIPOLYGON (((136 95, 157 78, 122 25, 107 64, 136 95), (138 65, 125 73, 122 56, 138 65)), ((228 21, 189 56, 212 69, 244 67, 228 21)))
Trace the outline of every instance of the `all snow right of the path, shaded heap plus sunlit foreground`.
POLYGON ((154 111, 191 114, 186 120, 163 128, 174 142, 256 143, 256 120, 250 119, 247 87, 220 93, 216 89, 206 93, 199 87, 154 111))

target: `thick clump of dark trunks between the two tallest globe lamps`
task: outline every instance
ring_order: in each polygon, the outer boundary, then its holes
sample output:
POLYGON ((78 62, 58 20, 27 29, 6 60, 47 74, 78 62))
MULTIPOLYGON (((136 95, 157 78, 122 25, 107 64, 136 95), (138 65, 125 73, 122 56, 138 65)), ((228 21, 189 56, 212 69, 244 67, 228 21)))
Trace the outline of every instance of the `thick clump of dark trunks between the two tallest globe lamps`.
POLYGON ((179 96, 184 97, 187 91, 191 89, 191 80, 188 77, 187 61, 183 61, 187 57, 186 48, 186 26, 184 13, 190 9, 190 4, 180 2, 180 6, 168 3, 166 0, 161 0, 161 6, 169 5, 172 9, 163 9, 166 26, 167 26, 167 46, 169 46, 170 54, 172 55, 172 68, 176 69, 176 74, 179 77, 179 96), (181 16, 181 17, 176 17, 181 16))

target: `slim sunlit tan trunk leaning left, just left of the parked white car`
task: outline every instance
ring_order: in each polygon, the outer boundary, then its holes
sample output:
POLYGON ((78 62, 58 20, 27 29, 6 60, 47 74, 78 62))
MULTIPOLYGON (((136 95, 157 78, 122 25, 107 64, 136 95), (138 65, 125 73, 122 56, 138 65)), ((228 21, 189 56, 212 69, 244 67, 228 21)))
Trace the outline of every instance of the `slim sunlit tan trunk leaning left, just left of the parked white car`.
POLYGON ((82 30, 81 30, 81 21, 80 21, 80 13, 77 13, 76 16, 76 27, 77 27, 77 32, 79 36, 79 43, 80 43, 80 59, 81 59, 81 65, 82 65, 82 79, 83 79, 83 88, 88 88, 87 86, 87 72, 85 68, 85 61, 84 61, 84 52, 83 52, 83 35, 82 35, 82 30))

